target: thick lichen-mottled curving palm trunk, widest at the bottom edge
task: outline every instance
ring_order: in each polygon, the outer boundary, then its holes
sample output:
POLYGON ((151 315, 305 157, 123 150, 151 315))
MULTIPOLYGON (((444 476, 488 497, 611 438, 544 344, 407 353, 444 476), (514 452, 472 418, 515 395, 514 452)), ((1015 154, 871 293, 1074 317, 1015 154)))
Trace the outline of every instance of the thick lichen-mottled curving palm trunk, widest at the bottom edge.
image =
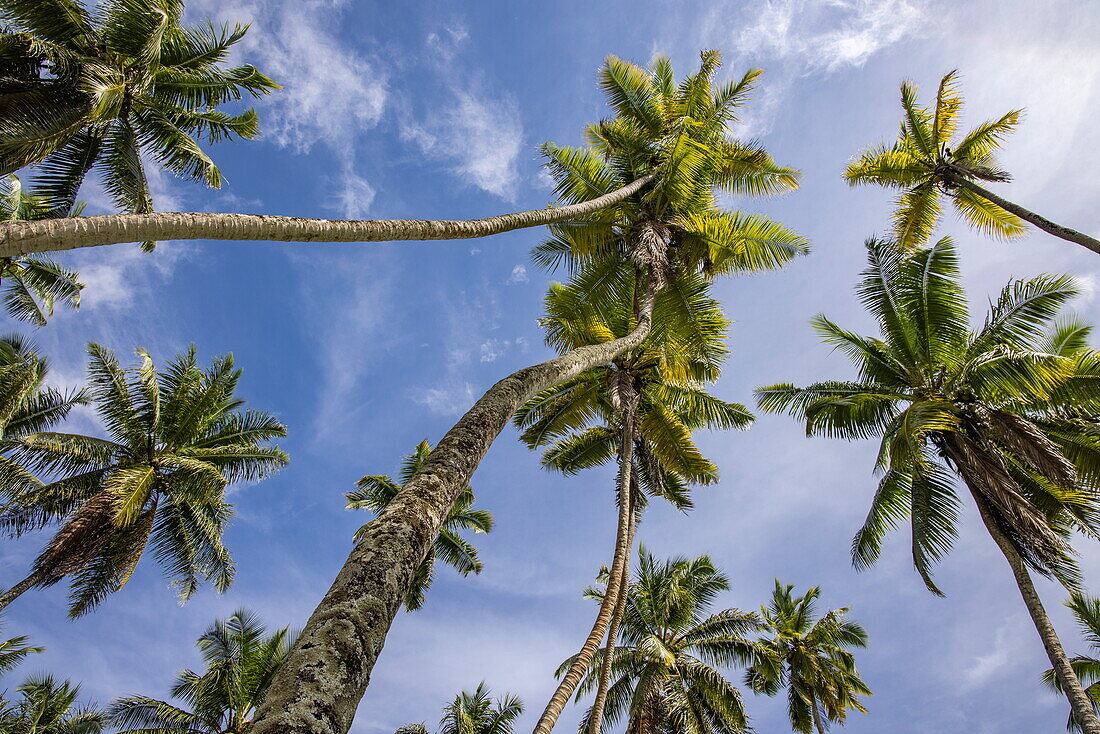
POLYGON ((250 734, 348 732, 413 573, 493 440, 531 395, 645 341, 657 289, 651 277, 644 316, 629 335, 508 375, 447 431, 355 544, 275 675, 250 734))

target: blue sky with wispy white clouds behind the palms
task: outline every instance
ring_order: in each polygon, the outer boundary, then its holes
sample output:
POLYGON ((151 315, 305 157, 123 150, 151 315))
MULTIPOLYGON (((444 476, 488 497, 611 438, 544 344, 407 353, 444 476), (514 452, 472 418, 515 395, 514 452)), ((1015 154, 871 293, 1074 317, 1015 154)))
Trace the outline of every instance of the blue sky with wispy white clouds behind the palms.
MULTIPOLYGON (((862 241, 888 224, 890 193, 853 189, 840 172, 887 140, 899 120, 898 85, 924 98, 961 73, 964 128, 1026 109, 1002 162, 1007 198, 1097 235, 1090 204, 1100 169, 1100 6, 1028 0, 776 0, 762 2, 372 2, 193 0, 196 20, 252 23, 240 57, 284 89, 256 105, 262 140, 215 146, 228 184, 218 191, 153 177, 158 208, 352 218, 473 218, 543 207, 551 196, 537 146, 579 144, 607 114, 596 87, 606 54, 647 63, 672 57, 683 74, 701 48, 725 58, 723 78, 765 69, 736 132, 803 172, 799 190, 729 199, 803 233, 813 253, 785 271, 718 282, 734 320, 733 355, 714 393, 751 404, 752 388, 842 379, 850 370, 809 327, 818 313, 858 331, 872 325, 853 285, 862 241)), ((82 197, 105 211, 95 182, 82 197)), ((436 441, 485 388, 550 355, 536 324, 546 273, 528 259, 543 230, 465 242, 395 244, 163 243, 67 253, 87 283, 79 311, 33 338, 58 385, 82 380, 85 343, 133 363, 195 343, 232 352, 240 394, 289 427, 290 465, 232 489, 227 543, 238 580, 180 606, 143 561, 129 585, 94 614, 65 616, 65 589, 29 592, 4 635, 46 647, 22 676, 51 671, 82 683, 87 701, 167 697, 194 640, 216 617, 246 606, 272 627, 305 623, 367 519, 343 508, 363 474, 395 472, 422 439, 436 441)), ((1041 232, 996 242, 948 213, 975 318, 1012 277, 1068 272, 1074 309, 1100 322, 1100 259, 1041 232)), ((26 332, 23 325, 6 330, 26 332)), ((78 410, 69 430, 98 430, 78 410)), ((658 556, 710 554, 732 579, 717 607, 758 609, 773 579, 823 588, 823 609, 850 606, 870 646, 858 665, 875 694, 853 734, 891 731, 1062 731, 1067 704, 1040 684, 1048 667, 1010 571, 972 513, 965 515, 930 594, 912 570, 904 532, 878 565, 853 569, 848 547, 876 485, 873 446, 807 439, 783 416, 744 432, 698 437, 722 482, 695 491, 689 515, 651 504, 639 529, 658 556)), ((485 570, 440 569, 425 607, 399 613, 352 731, 381 734, 426 722, 459 690, 486 681, 518 694, 521 732, 554 687, 595 613, 581 598, 614 540, 613 473, 565 479, 539 469, 513 429, 474 475, 479 505, 496 521, 477 536, 485 570)), ((0 585, 24 576, 40 537, 0 546, 0 585)), ((1088 583, 1100 587, 1100 548, 1078 541, 1088 583)), ((1064 590, 1037 580, 1067 649, 1086 651, 1062 606, 1064 590)), ((740 671, 730 671, 740 681, 740 671)), ((746 692, 760 732, 788 731, 782 699, 746 692)), ((560 731, 574 731, 571 705, 560 731)))

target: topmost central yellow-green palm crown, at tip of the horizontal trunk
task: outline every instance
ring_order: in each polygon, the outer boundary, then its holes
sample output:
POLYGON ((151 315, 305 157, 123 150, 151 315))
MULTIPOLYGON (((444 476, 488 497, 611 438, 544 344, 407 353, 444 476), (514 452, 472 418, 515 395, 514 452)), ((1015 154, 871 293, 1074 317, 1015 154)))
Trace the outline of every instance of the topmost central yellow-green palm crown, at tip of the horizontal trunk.
POLYGON ((782 224, 719 206, 718 190, 780 194, 799 178, 758 144, 729 135, 761 72, 717 84, 721 65, 718 52, 703 52, 700 69, 678 85, 667 56, 649 69, 607 57, 600 85, 615 117, 587 128, 586 146, 542 146, 556 193, 572 204, 640 176, 652 174, 654 183, 587 218, 552 226, 534 251, 536 262, 573 270, 598 263, 580 284, 600 297, 601 273, 609 269, 634 265, 668 281, 774 269, 809 252, 782 224))

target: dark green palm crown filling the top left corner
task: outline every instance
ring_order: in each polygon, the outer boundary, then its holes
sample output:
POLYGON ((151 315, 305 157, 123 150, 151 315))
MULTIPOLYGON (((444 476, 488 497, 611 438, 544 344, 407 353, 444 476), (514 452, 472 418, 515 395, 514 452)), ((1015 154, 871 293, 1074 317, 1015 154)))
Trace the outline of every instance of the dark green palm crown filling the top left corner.
POLYGON ((128 212, 153 201, 148 157, 183 178, 221 185, 199 140, 254 138, 256 113, 218 108, 277 85, 253 66, 228 67, 245 25, 184 25, 183 0, 0 0, 0 171, 37 164, 37 190, 68 211, 95 168, 128 212))

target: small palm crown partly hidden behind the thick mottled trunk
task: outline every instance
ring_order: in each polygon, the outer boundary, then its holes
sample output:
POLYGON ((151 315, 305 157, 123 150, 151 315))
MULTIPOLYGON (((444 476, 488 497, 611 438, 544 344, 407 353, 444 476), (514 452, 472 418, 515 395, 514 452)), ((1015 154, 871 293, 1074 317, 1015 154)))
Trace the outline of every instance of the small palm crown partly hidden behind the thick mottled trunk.
MULTIPOLYGON (((386 505, 393 502, 397 493, 408 482, 417 470, 424 465, 425 459, 431 453, 431 446, 428 441, 420 441, 413 450, 413 453, 405 458, 398 473, 399 482, 395 482, 386 474, 367 474, 359 480, 359 490, 349 492, 349 510, 370 510, 381 513, 386 505)), ((459 499, 454 502, 447 518, 443 521, 436 541, 416 570, 413 577, 413 585, 405 594, 405 609, 409 612, 420 609, 424 604, 425 592, 431 587, 436 572, 436 560, 442 560, 462 576, 482 572, 482 562, 477 558, 477 549, 460 535, 462 530, 473 530, 474 533, 488 533, 493 529, 493 515, 484 510, 474 510, 474 491, 465 487, 459 499)), ((355 538, 362 537, 366 532, 366 525, 360 528, 355 538)))

